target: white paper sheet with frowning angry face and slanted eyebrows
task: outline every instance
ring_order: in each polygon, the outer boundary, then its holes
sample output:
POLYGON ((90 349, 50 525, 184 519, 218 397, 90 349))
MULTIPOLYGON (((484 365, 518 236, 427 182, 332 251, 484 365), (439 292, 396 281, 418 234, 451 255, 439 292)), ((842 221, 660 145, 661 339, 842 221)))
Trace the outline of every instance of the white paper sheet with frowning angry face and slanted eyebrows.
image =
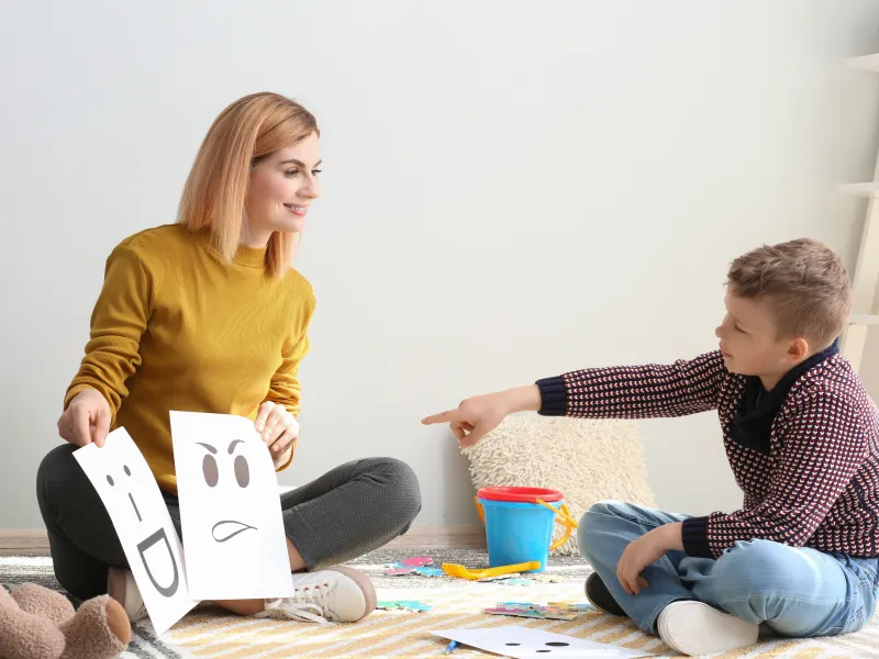
POLYGON ((190 595, 292 595, 278 479, 254 422, 176 411, 170 422, 190 595))

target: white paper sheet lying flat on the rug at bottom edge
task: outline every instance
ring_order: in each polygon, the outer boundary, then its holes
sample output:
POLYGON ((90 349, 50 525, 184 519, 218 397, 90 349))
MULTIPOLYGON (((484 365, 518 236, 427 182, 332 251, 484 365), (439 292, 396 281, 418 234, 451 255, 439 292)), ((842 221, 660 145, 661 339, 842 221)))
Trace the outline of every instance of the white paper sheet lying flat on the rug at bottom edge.
MULTIPOLYGON (((533 659, 545 657, 634 659, 635 657, 653 657, 653 652, 630 650, 617 646, 602 645, 591 640, 582 640, 574 636, 553 634, 542 629, 508 625, 487 627, 485 629, 441 629, 431 632, 436 636, 457 640, 487 652, 514 657, 515 659, 533 659)), ((454 654, 453 654, 454 657, 454 654)))

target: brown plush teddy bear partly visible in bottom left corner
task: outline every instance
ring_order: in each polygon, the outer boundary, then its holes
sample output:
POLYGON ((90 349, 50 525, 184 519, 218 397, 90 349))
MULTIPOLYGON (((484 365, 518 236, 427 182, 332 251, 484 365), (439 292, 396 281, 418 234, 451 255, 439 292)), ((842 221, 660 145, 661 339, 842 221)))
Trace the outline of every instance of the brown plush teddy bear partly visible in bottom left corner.
POLYGON ((130 641, 129 616, 109 595, 75 612, 42 585, 25 583, 11 595, 0 585, 0 659, 112 659, 130 641))

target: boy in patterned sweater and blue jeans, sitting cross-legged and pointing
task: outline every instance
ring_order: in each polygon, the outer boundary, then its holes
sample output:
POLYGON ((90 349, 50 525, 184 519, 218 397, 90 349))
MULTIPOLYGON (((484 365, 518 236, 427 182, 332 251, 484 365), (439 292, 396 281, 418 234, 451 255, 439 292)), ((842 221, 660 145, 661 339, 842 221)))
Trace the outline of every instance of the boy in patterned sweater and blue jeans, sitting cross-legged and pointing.
POLYGON ((716 410, 744 491, 691 517, 609 501, 579 528, 587 595, 675 650, 855 632, 879 599, 879 415, 838 353, 850 309, 839 258, 811 239, 735 259, 717 350, 669 366, 594 368, 465 400, 471 446, 510 413, 646 418, 716 410))

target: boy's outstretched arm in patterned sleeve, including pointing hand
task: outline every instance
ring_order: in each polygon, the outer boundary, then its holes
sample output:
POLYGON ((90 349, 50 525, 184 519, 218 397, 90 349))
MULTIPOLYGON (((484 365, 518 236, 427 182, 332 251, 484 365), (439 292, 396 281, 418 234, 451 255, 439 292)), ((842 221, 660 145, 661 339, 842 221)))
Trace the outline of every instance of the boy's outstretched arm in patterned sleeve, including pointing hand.
POLYGON ((577 370, 528 387, 469 398, 456 410, 427 416, 422 423, 448 423, 466 448, 514 412, 591 418, 683 416, 716 409, 726 375, 719 350, 669 365, 577 370))

